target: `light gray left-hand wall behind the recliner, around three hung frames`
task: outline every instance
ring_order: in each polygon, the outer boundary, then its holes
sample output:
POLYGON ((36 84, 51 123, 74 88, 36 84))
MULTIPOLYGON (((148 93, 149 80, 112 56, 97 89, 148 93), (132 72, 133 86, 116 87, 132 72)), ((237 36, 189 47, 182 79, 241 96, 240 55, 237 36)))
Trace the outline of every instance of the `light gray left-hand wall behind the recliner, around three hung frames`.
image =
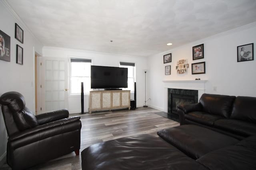
MULTIPOLYGON (((0 1, 0 16, 0 30, 11 38, 11 61, 0 60, 0 95, 8 91, 18 91, 24 95, 26 106, 34 111, 34 49, 42 54, 42 45, 3 1, 0 1), (24 30, 23 44, 14 38, 15 23, 24 30), (23 65, 16 64, 16 44, 23 48, 23 65)), ((6 128, 0 111, 0 166, 5 161, 6 145, 6 128)))

